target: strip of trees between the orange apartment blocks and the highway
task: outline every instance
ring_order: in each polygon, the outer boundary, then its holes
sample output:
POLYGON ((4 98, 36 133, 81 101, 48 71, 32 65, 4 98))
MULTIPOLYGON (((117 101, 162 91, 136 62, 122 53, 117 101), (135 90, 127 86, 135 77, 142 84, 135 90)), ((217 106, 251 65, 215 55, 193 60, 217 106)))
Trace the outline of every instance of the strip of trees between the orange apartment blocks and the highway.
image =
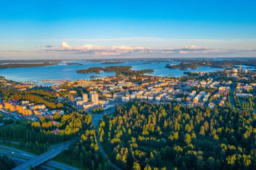
POLYGON ((20 146, 30 148, 34 153, 40 154, 48 150, 50 144, 65 142, 74 138, 77 133, 84 132, 92 127, 90 114, 71 114, 60 116, 55 114, 55 120, 59 120, 57 128, 59 132, 53 133, 53 127, 49 118, 40 117, 38 122, 29 121, 25 125, 16 122, 15 126, 0 128, 0 139, 3 142, 18 141, 20 146))

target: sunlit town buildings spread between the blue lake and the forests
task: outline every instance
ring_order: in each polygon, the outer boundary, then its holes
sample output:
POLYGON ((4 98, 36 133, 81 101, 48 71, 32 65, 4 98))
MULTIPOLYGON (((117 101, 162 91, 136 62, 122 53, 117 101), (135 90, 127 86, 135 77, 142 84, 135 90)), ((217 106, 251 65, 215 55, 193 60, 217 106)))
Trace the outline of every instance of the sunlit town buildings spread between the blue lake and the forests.
MULTIPOLYGON (((234 83, 236 83, 234 87, 235 97, 241 99, 253 97, 256 83, 253 81, 249 81, 252 83, 243 83, 243 80, 248 80, 250 77, 254 79, 254 75, 249 76, 247 71, 232 69, 217 73, 201 72, 197 74, 202 78, 193 79, 191 77, 185 81, 174 77, 117 75, 96 80, 63 81, 64 84, 53 85, 47 90, 56 95, 57 101, 70 100, 77 111, 84 110, 89 113, 103 112, 133 99, 156 103, 177 102, 191 108, 197 105, 207 105, 210 108, 214 108, 216 105, 223 107, 229 99, 234 83), (220 81, 220 77, 208 76, 220 73, 226 75, 228 79, 220 81), (207 77, 207 79, 203 79, 203 77, 207 77), (237 80, 241 80, 241 83, 237 80), (79 88, 84 91, 78 93, 79 88)), ((12 87, 18 91, 45 89, 43 86, 30 83, 9 83, 3 77, 1 85, 8 88, 12 87)), ((34 103, 28 99, 4 100, 2 98, 0 102, 0 112, 5 119, 11 116, 16 120, 26 118, 35 121, 40 116, 45 116, 52 120, 55 114, 65 114, 64 110, 49 109, 44 103, 34 103)), ((58 122, 53 121, 52 123, 58 122)), ((3 125, 1 124, 1 126, 3 125)))

